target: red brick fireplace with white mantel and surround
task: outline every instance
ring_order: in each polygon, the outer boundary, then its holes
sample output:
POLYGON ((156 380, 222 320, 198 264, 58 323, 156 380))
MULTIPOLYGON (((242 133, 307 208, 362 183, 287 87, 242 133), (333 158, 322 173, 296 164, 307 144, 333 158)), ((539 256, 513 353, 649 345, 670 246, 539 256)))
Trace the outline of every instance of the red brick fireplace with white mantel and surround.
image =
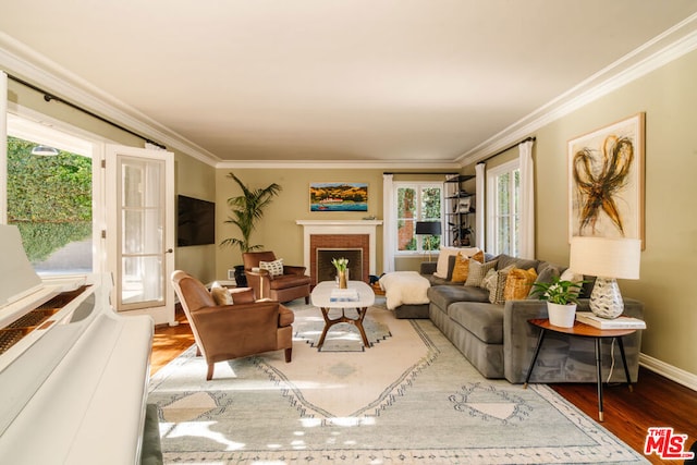
POLYGON ((376 274, 376 229, 382 221, 297 220, 296 223, 304 229, 304 265, 311 284, 334 279, 335 270, 331 265, 334 257, 348 258, 351 280, 368 282, 370 274, 376 274), (318 250, 328 254, 318 258, 318 250), (356 255, 352 259, 348 254, 356 255))

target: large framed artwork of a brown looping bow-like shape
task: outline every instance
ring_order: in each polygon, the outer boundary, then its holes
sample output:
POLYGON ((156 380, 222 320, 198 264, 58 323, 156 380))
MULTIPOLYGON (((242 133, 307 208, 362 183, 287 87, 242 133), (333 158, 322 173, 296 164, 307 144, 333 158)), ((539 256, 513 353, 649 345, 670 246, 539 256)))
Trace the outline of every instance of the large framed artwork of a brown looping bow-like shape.
POLYGON ((568 142, 568 235, 644 242, 645 113, 568 142))

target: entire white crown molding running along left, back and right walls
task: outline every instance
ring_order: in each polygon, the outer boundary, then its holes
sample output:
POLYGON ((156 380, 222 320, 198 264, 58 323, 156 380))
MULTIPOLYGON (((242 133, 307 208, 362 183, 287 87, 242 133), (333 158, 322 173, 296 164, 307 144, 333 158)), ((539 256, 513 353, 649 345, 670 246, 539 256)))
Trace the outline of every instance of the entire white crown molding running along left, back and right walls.
POLYGON ((453 159, 452 162, 437 163, 413 160, 343 160, 335 162, 313 160, 225 161, 1 32, 0 66, 10 74, 16 74, 17 77, 35 83, 37 86, 74 101, 76 105, 103 115, 110 121, 124 125, 136 133, 144 134, 150 139, 158 140, 170 148, 175 148, 215 168, 458 170, 515 144, 517 140, 534 134, 540 127, 689 53, 696 48, 697 14, 694 14, 600 70, 568 91, 489 137, 472 150, 453 159))

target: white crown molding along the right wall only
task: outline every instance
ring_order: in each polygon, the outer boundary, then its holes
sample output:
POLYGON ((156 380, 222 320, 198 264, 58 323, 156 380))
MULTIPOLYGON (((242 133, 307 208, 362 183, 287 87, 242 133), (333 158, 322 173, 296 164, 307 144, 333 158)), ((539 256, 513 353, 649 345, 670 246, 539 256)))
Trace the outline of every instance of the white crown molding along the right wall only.
POLYGON ((600 70, 527 117, 455 159, 461 167, 535 134, 535 131, 697 49, 697 14, 600 70))

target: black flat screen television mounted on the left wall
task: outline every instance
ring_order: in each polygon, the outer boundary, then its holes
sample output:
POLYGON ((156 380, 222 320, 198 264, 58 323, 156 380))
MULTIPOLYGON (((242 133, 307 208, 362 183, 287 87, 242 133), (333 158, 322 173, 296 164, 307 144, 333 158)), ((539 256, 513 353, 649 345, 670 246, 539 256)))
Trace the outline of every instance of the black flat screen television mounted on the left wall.
POLYGON ((216 204, 198 198, 178 196, 176 246, 216 243, 216 204))

